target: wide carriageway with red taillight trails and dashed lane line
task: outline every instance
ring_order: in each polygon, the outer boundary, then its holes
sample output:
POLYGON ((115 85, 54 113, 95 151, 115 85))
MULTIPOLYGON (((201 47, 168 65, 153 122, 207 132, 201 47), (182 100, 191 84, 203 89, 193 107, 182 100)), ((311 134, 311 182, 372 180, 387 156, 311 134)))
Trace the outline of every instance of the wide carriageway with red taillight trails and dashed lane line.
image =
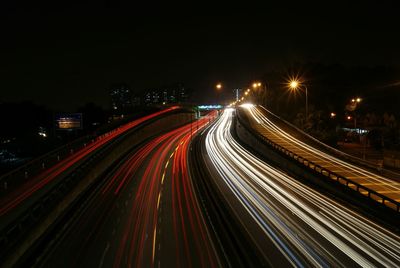
POLYGON ((28 264, 220 266, 187 167, 192 135, 209 121, 203 117, 132 151, 83 199, 45 250, 28 264))

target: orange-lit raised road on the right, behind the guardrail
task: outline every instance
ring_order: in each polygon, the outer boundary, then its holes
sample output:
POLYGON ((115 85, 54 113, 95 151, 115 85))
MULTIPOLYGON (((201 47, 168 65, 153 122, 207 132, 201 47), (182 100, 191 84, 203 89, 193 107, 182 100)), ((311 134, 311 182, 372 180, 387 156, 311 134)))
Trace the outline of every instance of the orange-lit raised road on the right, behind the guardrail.
MULTIPOLYGON (((268 118, 267 113, 259 107, 246 105, 240 109, 242 109, 250 119, 251 126, 272 142, 320 165, 323 168, 326 168, 329 171, 351 179, 352 181, 383 194, 396 202, 400 202, 399 182, 372 173, 365 168, 350 164, 295 138, 287 131, 282 130, 282 128, 273 120, 268 118)), ((355 185, 353 187, 355 187, 355 185)), ((365 190, 360 190, 360 193, 368 195, 368 192, 365 190)), ((371 198, 382 202, 382 198, 379 196, 372 195, 371 198)), ((390 206, 391 204, 386 203, 386 205, 390 206)), ((396 209, 396 207, 393 208, 396 209)))

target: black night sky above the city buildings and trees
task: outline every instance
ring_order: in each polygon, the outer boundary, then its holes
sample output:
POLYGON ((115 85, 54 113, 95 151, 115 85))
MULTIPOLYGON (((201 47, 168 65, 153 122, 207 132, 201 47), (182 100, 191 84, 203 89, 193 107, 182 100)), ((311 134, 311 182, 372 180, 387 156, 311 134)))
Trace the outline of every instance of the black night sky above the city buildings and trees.
POLYGON ((138 92, 183 82, 207 100, 217 81, 243 86, 294 62, 400 64, 396 1, 2 2, 2 101, 106 106, 106 89, 120 82, 138 92))

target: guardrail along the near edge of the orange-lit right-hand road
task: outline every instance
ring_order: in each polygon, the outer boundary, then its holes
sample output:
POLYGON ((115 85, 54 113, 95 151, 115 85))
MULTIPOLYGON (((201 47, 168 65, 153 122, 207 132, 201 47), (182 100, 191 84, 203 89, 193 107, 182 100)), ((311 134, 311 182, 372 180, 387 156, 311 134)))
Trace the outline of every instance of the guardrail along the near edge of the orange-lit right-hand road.
POLYGON ((320 175, 323 175, 326 178, 335 180, 337 183, 340 183, 341 185, 344 185, 360 194, 363 196, 367 196, 374 201, 381 203, 382 205, 389 207, 391 209, 396 210, 397 212, 400 212, 400 203, 397 202, 396 200, 393 200, 383 194, 380 194, 372 189, 369 189, 368 187, 365 187, 351 179, 348 179, 346 177, 343 177, 335 172, 332 172, 312 161, 307 160, 306 158, 297 155, 296 153, 293 153, 292 151, 284 148, 283 146, 280 146, 279 144, 274 143, 273 141, 269 140, 268 138, 264 137, 257 131, 255 131, 249 124, 248 122, 245 122, 246 120, 240 118, 240 113, 236 113, 235 120, 237 120, 241 126, 243 126, 250 134, 252 134, 257 140, 263 142, 264 144, 267 144, 270 148, 280 152, 282 155, 291 158, 298 163, 302 164, 303 166, 310 168, 314 170, 315 172, 319 173, 320 175))

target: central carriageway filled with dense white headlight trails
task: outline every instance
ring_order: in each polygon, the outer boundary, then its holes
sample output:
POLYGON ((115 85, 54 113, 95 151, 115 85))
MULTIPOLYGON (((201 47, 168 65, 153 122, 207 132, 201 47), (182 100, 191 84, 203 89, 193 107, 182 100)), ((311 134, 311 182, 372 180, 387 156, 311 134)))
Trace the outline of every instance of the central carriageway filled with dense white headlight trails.
POLYGON ((234 113, 209 129, 202 156, 269 266, 400 266, 397 234, 246 151, 230 132, 234 113))

